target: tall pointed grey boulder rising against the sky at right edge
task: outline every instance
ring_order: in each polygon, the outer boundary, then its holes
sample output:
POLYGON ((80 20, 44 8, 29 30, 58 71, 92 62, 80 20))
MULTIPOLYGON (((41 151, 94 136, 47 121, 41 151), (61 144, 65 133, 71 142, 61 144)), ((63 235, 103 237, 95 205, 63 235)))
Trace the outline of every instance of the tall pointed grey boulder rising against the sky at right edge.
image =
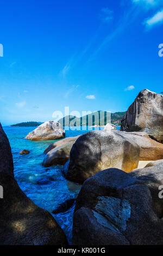
POLYGON ((121 121, 121 131, 145 131, 163 143, 163 95, 144 89, 121 121))

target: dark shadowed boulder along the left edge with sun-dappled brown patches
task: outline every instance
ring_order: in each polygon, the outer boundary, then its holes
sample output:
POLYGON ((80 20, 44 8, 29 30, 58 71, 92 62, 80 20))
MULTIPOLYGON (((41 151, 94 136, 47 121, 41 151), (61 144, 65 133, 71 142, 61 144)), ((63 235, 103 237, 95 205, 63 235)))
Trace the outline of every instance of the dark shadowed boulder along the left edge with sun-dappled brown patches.
POLYGON ((0 124, 0 245, 67 245, 64 231, 36 206, 14 179, 10 144, 0 124))

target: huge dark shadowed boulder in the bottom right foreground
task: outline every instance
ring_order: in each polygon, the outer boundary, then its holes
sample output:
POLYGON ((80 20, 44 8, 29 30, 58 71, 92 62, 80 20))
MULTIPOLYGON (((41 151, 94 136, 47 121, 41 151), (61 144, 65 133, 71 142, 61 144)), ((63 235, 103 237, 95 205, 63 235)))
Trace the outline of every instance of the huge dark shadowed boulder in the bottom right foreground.
POLYGON ((73 245, 162 245, 149 188, 120 169, 87 179, 76 202, 73 245))

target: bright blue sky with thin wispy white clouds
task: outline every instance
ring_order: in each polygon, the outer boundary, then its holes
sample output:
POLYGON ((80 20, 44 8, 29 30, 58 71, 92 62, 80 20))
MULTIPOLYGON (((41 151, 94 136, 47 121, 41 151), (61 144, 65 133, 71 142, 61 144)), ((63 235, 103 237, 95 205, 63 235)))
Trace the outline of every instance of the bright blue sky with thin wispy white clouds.
POLYGON ((163 90, 162 0, 3 1, 0 121, 54 111, 126 111, 163 90))

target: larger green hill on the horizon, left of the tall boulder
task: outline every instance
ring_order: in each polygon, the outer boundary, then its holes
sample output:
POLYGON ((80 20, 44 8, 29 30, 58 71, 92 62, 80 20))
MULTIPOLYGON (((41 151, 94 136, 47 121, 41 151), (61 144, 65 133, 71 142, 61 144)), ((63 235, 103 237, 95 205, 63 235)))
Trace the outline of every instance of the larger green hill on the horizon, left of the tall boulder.
MULTIPOLYGON (((126 112, 116 112, 111 113, 111 124, 121 125, 121 120, 126 112)), ((93 125, 106 125, 108 123, 110 112, 107 111, 97 111, 91 114, 84 115, 83 117, 77 118, 69 115, 70 120, 68 120, 68 115, 64 118, 58 120, 58 122, 63 126, 88 126, 92 122, 93 125)))

